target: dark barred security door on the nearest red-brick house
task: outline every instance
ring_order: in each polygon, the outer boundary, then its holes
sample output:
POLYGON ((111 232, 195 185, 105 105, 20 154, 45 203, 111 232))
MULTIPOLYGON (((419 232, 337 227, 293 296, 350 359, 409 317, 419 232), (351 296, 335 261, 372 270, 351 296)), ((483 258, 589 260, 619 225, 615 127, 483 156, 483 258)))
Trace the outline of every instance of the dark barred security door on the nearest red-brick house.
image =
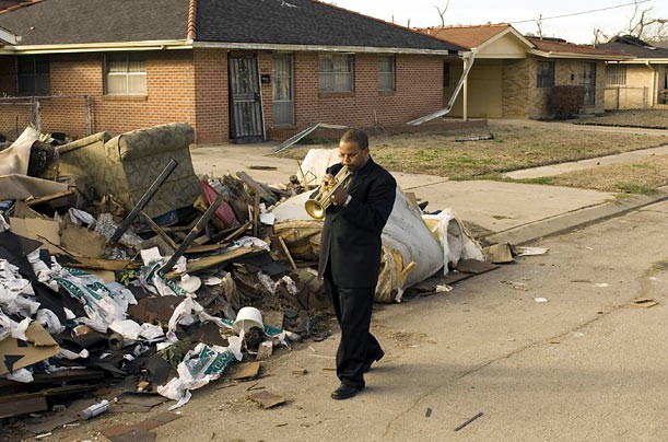
POLYGON ((230 55, 230 138, 235 142, 265 141, 262 101, 255 55, 230 55))

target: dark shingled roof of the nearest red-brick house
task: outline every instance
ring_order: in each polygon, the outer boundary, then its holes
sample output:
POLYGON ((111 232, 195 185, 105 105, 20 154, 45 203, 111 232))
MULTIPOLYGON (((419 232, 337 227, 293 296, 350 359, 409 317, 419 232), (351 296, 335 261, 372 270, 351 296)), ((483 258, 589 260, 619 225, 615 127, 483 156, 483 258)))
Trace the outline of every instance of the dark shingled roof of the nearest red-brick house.
POLYGON ((21 36, 17 50, 140 42, 462 49, 315 0, 42 0, 0 12, 0 26, 21 36))

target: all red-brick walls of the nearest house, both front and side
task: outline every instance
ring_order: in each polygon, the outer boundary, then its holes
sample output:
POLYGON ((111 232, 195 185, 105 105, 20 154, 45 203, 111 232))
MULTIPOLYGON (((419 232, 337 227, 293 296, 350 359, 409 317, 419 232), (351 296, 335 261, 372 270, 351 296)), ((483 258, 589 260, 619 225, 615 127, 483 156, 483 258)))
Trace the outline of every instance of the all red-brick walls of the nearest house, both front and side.
MULTIPOLYGON (((228 141, 227 53, 220 49, 144 53, 145 96, 104 94, 103 54, 54 54, 49 57, 50 94, 40 98, 44 131, 73 138, 89 132, 118 135, 172 121, 196 128, 200 144, 228 141), (85 98, 85 97, 89 98, 85 98)), ((272 54, 258 53, 260 73, 272 73, 272 54)), ((0 95, 15 95, 14 58, 0 62, 0 95), (5 62, 7 61, 7 62, 5 62)), ((272 85, 261 85, 268 136, 283 139, 316 123, 372 127, 401 125, 444 106, 443 57, 398 55, 396 91, 378 91, 377 56, 354 56, 354 92, 319 93, 318 55, 294 54, 295 124, 274 128, 272 85)), ((30 108, 28 108, 30 109, 30 108)), ((0 132, 30 119, 26 106, 0 107, 0 132)))

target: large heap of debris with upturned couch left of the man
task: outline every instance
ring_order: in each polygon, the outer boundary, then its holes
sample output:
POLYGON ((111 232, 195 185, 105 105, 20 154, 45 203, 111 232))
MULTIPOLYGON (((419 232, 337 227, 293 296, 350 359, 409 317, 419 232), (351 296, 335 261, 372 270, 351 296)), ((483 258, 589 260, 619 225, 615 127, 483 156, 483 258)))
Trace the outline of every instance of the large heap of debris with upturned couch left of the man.
POLYGON ((180 406, 228 364, 329 334, 270 221, 298 186, 196 176, 192 141, 187 124, 69 143, 27 128, 0 151, 0 419, 109 383, 180 406))

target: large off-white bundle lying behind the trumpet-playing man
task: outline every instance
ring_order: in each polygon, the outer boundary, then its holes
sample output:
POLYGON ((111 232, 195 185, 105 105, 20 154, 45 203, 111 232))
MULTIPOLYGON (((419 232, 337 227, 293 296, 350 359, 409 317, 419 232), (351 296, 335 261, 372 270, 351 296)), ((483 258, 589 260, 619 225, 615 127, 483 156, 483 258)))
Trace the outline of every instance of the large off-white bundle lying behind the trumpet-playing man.
MULTIPOLYGON (((338 161, 338 150, 308 151, 302 171, 320 179, 338 161)), ((304 210, 309 191, 285 200, 273 209, 274 232, 283 237, 290 253, 303 259, 317 259, 323 221, 304 210)), ((401 302, 403 291, 460 259, 484 260, 482 249, 466 232, 452 210, 422 216, 408 203, 397 187, 395 206, 383 230, 382 268, 376 286, 377 302, 401 302), (426 221, 426 222, 425 222, 426 221)))

